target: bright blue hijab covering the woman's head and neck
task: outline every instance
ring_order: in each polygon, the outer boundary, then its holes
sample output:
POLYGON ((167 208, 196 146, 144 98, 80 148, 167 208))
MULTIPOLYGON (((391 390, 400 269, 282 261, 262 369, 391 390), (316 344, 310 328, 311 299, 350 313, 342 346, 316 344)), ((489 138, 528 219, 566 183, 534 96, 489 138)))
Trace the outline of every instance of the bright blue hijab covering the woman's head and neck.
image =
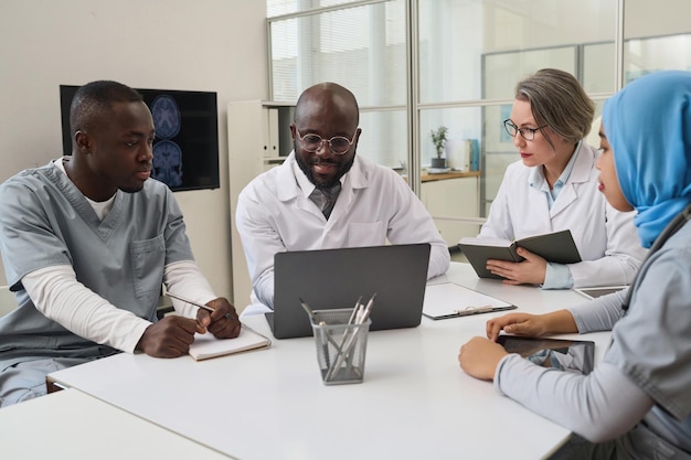
POLYGON ((691 73, 629 83, 605 103, 603 126, 641 245, 650 247, 691 202, 691 73))

